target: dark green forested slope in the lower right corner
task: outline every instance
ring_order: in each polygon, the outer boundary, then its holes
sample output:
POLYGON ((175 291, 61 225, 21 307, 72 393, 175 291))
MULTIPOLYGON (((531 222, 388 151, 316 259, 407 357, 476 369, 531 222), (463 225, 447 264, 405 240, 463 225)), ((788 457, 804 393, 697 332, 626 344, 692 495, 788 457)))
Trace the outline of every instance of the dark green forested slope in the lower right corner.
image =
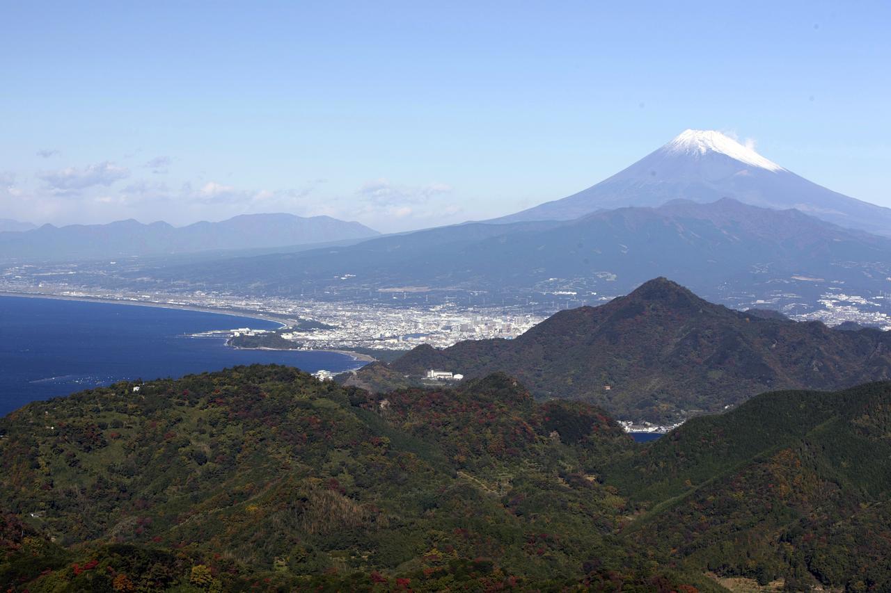
POLYGON ((891 383, 762 394, 612 464, 625 535, 789 589, 891 590, 891 383))

